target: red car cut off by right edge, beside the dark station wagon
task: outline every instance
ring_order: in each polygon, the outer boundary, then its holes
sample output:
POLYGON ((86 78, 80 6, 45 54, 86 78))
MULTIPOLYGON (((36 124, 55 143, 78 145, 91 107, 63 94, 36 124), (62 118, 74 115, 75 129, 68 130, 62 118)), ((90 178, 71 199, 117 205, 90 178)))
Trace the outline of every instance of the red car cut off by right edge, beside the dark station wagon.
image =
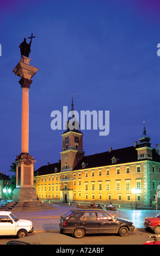
POLYGON ((160 234, 160 214, 156 217, 145 218, 144 226, 153 230, 155 234, 160 234))

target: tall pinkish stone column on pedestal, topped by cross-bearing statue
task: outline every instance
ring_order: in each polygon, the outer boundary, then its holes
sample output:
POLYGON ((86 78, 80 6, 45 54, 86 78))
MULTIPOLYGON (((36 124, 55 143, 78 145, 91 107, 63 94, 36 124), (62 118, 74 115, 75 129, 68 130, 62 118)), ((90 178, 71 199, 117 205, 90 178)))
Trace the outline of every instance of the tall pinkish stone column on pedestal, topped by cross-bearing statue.
MULTIPOLYGON (((30 50, 29 44, 28 47, 30 50)), ((27 56, 29 56, 29 54, 27 56)), ((36 190, 34 188, 34 163, 36 161, 33 159, 33 156, 29 155, 28 141, 29 88, 32 83, 30 79, 39 69, 29 65, 31 59, 27 56, 21 56, 20 62, 13 70, 16 76, 21 77, 19 83, 22 88, 21 154, 16 156, 16 161, 14 162, 16 164, 16 188, 13 192, 14 202, 34 202, 37 200, 36 190)))

